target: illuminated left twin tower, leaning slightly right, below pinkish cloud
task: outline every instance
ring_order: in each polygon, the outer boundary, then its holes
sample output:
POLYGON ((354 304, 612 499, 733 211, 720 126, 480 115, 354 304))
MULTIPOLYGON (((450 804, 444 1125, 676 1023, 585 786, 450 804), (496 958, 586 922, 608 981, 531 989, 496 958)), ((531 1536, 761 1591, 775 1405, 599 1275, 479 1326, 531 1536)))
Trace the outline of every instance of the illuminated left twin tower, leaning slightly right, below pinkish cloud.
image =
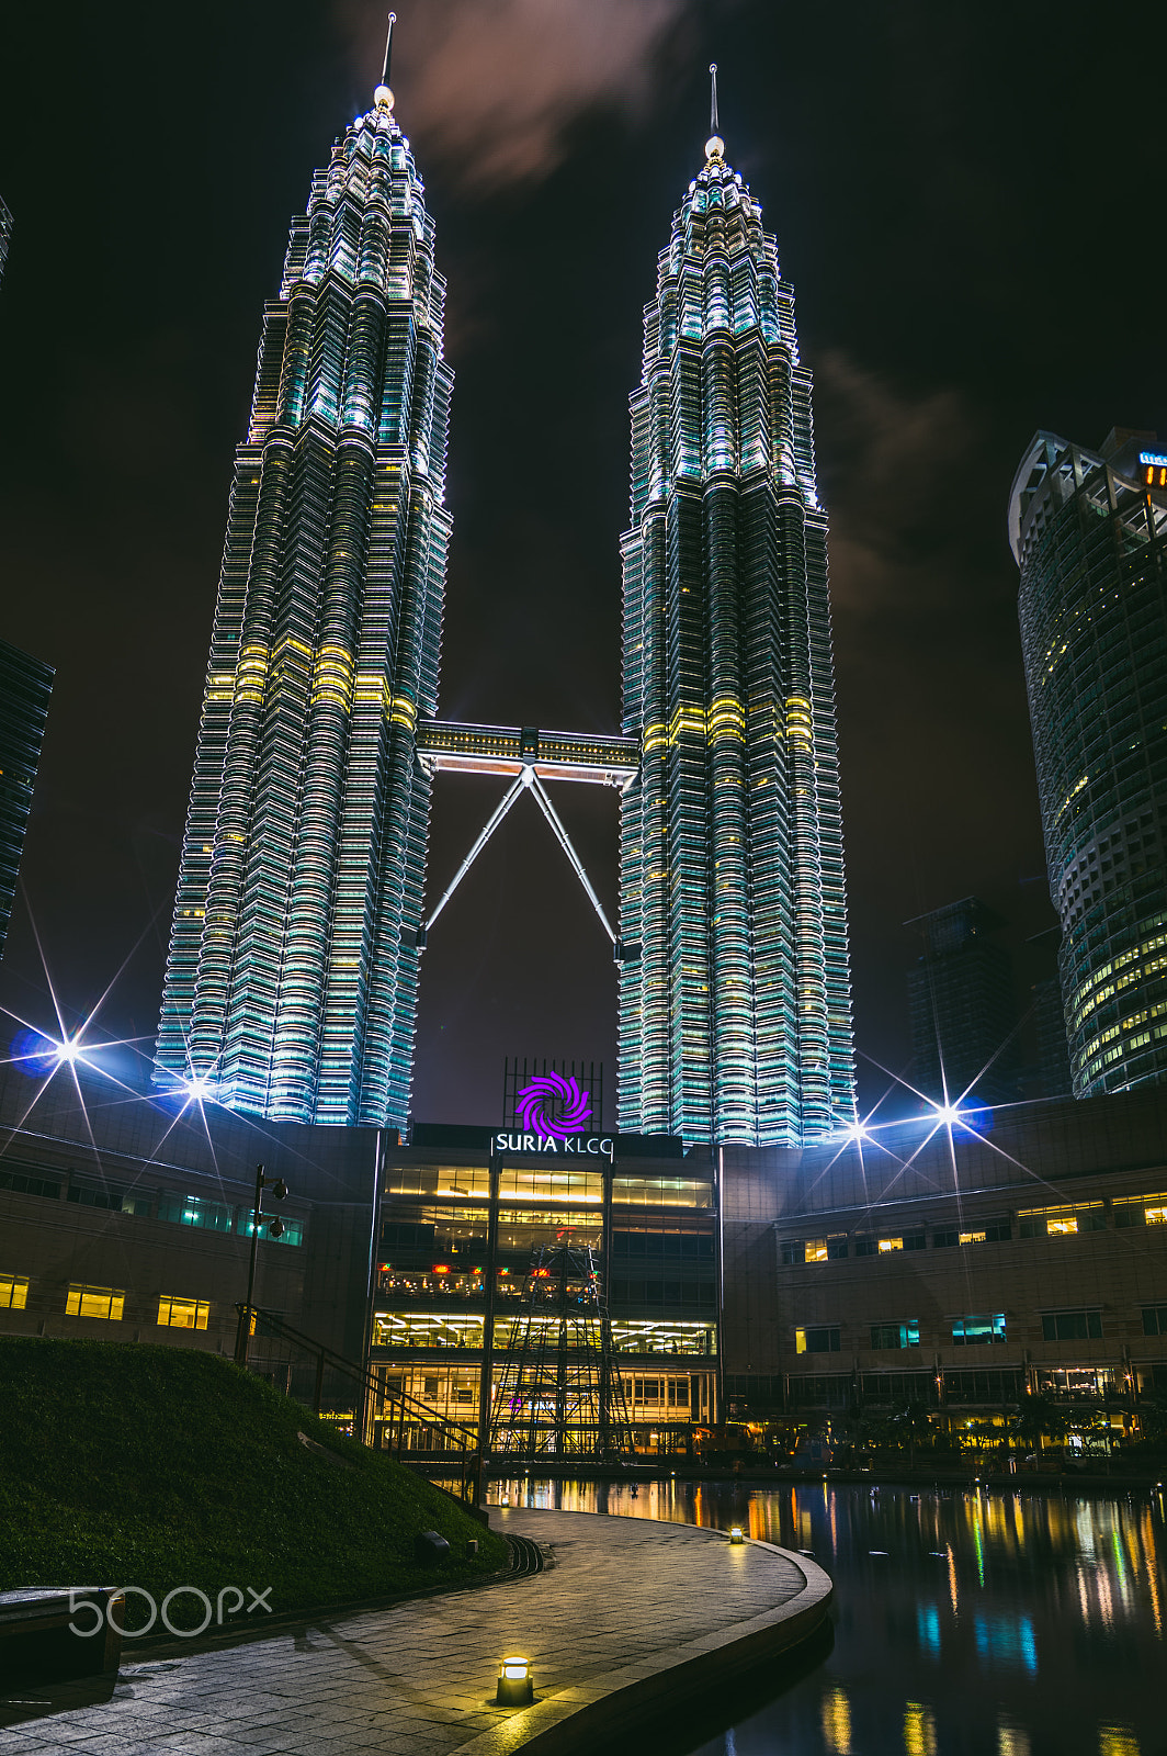
POLYGON ((409 1110, 449 516, 446 283, 381 84, 291 225, 239 448, 156 1050, 272 1120, 409 1110))

